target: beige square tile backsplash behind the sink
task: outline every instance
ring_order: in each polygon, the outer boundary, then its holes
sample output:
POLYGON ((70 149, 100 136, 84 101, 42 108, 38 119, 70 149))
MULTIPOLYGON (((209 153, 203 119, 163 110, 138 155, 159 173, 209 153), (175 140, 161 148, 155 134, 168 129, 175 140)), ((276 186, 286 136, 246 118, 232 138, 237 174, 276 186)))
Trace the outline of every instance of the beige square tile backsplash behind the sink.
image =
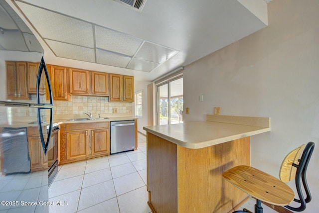
POLYGON ((83 114, 91 112, 92 114, 110 114, 117 108, 119 113, 131 113, 133 111, 132 103, 109 102, 108 97, 95 96, 72 96, 71 101, 54 101, 54 115, 83 114))

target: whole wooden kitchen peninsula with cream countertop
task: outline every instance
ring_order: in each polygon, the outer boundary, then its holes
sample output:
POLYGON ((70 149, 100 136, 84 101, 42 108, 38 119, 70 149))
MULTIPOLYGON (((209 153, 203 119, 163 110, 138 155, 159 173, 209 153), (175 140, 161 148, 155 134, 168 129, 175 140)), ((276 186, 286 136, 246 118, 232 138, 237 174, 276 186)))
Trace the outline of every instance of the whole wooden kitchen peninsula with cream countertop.
POLYGON ((249 199, 221 174, 250 165, 250 136, 270 131, 270 118, 206 118, 144 127, 148 203, 154 213, 227 213, 249 199))

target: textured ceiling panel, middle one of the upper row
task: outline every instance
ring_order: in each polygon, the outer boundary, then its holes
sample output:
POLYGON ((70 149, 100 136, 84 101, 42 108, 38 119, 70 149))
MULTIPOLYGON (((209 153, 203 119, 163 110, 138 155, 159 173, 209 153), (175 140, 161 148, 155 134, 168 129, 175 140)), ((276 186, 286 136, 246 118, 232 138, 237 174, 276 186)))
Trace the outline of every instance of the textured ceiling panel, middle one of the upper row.
POLYGON ((133 56, 143 42, 139 38, 100 26, 95 27, 95 37, 97 48, 128 56, 133 56))

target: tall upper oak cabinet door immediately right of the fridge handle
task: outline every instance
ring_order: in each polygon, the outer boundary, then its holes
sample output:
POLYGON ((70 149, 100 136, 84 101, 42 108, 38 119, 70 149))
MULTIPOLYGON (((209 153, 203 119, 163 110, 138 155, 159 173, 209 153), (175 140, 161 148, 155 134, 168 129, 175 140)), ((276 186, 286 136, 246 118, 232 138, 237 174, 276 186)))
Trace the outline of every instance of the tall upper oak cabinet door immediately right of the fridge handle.
POLYGON ((69 101, 67 94, 66 68, 51 66, 51 84, 53 99, 59 101, 69 101))

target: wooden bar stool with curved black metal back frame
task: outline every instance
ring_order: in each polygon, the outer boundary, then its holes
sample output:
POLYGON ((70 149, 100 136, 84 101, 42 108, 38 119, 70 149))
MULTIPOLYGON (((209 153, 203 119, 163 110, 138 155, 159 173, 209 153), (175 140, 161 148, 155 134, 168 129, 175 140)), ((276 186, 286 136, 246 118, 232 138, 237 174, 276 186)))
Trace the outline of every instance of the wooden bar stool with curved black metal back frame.
MULTIPOLYGON (((280 180, 263 171, 244 165, 229 169, 224 172, 222 176, 226 181, 257 200, 255 213, 263 213, 263 208, 261 207, 262 201, 276 206, 285 206, 287 209, 296 212, 302 212, 306 209, 306 204, 311 201, 306 173, 314 148, 315 143, 309 142, 306 147, 303 144, 291 151, 282 162, 280 180), (302 156, 301 153, 303 153, 302 156), (295 179, 296 182, 299 199, 295 199, 294 191, 285 184, 285 182, 292 181, 293 179, 295 179), (307 196, 306 199, 302 192, 301 181, 307 196), (293 201, 299 203, 300 207, 295 208, 288 206, 293 201)), ((252 213, 247 209, 234 213, 247 212, 252 213)))

